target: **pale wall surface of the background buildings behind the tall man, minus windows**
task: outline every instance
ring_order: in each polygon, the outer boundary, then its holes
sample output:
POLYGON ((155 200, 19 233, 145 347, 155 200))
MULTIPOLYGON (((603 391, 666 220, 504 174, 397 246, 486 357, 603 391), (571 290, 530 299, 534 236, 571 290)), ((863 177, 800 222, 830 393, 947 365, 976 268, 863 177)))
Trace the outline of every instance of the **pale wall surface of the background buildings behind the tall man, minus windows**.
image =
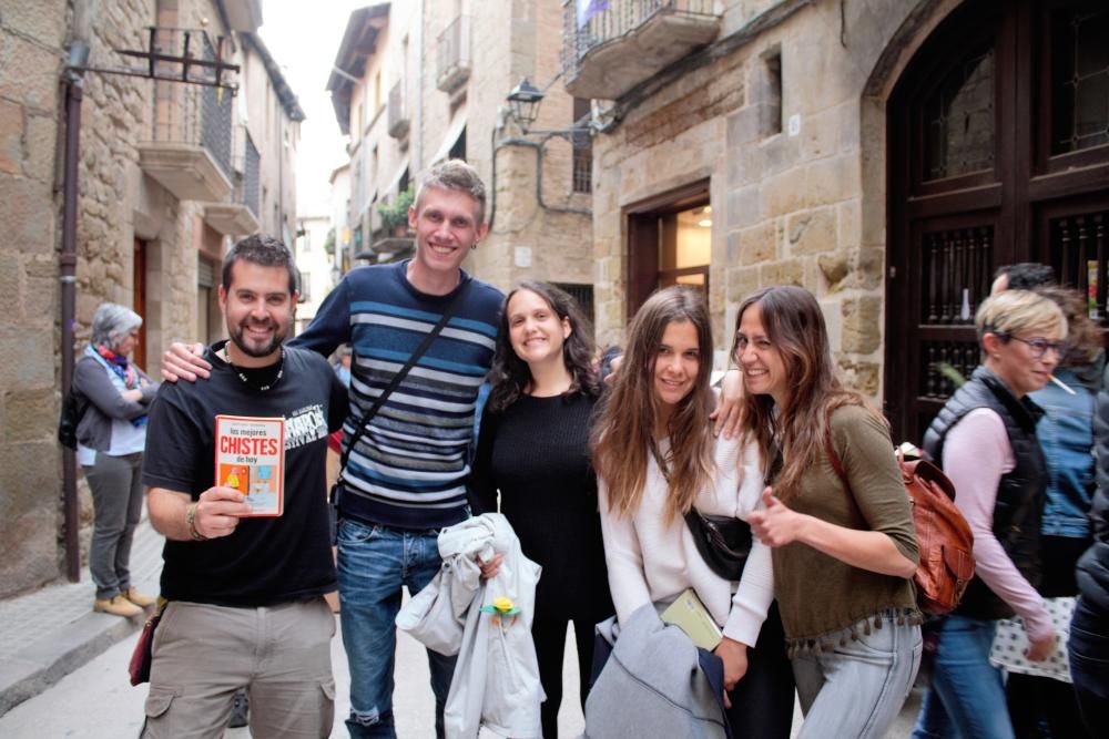
MULTIPOLYGON (((405 166, 416 181, 465 123, 466 160, 490 188, 486 215, 492 227, 464 268, 506 290, 525 279, 592 285, 591 196, 572 189, 569 141, 526 134, 506 117, 506 97, 522 78, 543 86, 561 69, 560 4, 428 0, 423 16, 419 3, 390 7, 362 82, 349 93, 354 227, 362 224, 366 234, 376 228, 373 211, 395 196, 405 166), (470 72, 462 86, 446 92, 435 83, 437 39, 459 16, 469 19, 470 72), (375 107, 387 101, 372 100, 378 75, 386 93, 403 79, 410 129, 401 140, 388 136, 387 111, 375 107)), ((564 130, 572 121, 573 99, 556 81, 532 129, 564 130)))

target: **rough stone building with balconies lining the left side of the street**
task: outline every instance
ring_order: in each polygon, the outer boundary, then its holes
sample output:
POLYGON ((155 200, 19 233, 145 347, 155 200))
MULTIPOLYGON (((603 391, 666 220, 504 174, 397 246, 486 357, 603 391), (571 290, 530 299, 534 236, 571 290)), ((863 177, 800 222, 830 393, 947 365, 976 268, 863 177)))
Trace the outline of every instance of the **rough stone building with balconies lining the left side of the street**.
MULTIPOLYGON (((0 227, 9 234, 0 245, 9 306, 0 318, 0 596, 57 577, 63 562, 73 572, 78 555, 62 545, 55 440, 68 184, 62 82, 81 95, 69 183, 75 309, 64 320, 73 321, 80 351, 101 302, 132 306, 144 318, 135 360, 156 377, 172 340, 222 335, 216 285, 227 244, 260 228, 295 232, 303 112, 255 35, 261 23, 261 0, 22 1, 0 12, 0 227), (170 57, 187 49, 203 64, 186 71, 151 61, 154 47, 170 57), (217 70, 237 95, 199 84, 216 82, 217 70)), ((84 537, 87 496, 80 509, 84 537)))

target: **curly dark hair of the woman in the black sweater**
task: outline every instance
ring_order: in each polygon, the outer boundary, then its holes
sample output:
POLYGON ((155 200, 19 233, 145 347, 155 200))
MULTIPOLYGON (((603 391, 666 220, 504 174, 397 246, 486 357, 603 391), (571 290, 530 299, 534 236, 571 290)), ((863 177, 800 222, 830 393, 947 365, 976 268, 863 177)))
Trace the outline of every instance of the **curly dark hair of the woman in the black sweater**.
POLYGON ((559 319, 570 321, 570 336, 562 342, 562 361, 572 378, 566 397, 578 393, 588 396, 600 394, 600 380, 593 371, 592 327, 581 314, 578 301, 570 294, 550 283, 520 283, 505 298, 505 309, 500 314, 500 328, 497 331, 497 351, 492 358, 492 370, 489 382, 492 390, 489 393, 489 408, 500 413, 527 393, 531 384, 531 370, 528 363, 516 356, 508 327, 508 304, 520 290, 535 292, 543 302, 550 306, 559 319))

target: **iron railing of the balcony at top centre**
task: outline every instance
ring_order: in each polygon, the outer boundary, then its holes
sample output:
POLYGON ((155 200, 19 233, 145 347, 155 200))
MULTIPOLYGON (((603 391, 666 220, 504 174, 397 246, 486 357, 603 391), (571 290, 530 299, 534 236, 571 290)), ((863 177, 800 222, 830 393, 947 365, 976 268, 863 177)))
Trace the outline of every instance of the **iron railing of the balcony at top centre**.
POLYGON ((658 14, 719 18, 713 0, 562 0, 562 69, 578 76, 592 49, 624 37, 658 14))

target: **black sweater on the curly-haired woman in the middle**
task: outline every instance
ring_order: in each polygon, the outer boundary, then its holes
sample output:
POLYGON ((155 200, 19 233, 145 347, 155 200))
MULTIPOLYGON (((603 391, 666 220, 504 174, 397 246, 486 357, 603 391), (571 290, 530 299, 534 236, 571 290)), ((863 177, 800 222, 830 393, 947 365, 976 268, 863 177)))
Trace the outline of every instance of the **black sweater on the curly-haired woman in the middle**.
POLYGON ((536 610, 601 620, 612 614, 589 460, 596 398, 521 397, 486 411, 470 476, 476 513, 505 514, 523 554, 542 566, 536 610))

